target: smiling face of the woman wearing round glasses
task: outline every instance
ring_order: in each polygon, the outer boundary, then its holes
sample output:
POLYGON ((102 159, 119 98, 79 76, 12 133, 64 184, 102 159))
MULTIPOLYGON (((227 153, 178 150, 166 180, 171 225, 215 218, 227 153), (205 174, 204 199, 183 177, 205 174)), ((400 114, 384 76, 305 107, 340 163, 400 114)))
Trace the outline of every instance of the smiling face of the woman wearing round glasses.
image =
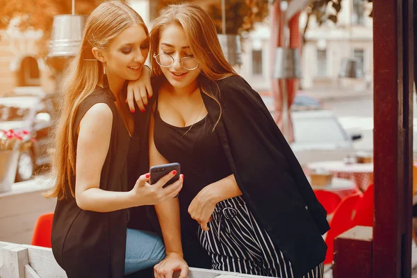
POLYGON ((174 88, 189 88, 197 85, 200 67, 187 70, 182 67, 179 61, 183 57, 194 58, 186 33, 179 24, 170 24, 163 29, 159 40, 158 54, 169 54, 175 59, 170 67, 161 67, 167 81, 174 88))

